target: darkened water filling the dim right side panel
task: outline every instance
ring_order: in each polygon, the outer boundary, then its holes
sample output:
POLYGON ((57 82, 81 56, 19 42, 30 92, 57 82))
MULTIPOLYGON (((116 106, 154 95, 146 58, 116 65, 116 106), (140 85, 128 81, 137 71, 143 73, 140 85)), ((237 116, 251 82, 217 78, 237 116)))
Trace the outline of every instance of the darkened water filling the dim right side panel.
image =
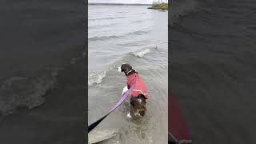
POLYGON ((170 86, 194 143, 255 143, 256 2, 173 3, 170 86))

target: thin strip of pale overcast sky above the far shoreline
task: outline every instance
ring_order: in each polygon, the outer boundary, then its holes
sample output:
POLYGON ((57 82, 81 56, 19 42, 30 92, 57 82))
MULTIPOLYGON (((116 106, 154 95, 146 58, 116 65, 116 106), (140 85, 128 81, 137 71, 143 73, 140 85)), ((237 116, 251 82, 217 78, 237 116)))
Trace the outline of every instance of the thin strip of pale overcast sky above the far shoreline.
MULTIPOLYGON (((152 2, 158 2, 158 0, 88 0, 88 2, 95 3, 147 3, 151 4, 152 2)), ((166 0, 162 0, 166 2, 166 0)))

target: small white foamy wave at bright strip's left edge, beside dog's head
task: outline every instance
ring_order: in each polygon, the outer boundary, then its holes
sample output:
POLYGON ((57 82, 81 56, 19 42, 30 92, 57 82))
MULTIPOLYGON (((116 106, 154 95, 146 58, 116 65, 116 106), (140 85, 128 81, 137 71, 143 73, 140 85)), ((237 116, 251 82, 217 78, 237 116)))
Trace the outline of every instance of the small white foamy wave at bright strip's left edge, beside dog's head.
POLYGON ((93 86, 94 84, 99 84, 102 82, 103 78, 106 77, 106 71, 100 71, 98 73, 92 73, 88 76, 88 86, 93 86))

